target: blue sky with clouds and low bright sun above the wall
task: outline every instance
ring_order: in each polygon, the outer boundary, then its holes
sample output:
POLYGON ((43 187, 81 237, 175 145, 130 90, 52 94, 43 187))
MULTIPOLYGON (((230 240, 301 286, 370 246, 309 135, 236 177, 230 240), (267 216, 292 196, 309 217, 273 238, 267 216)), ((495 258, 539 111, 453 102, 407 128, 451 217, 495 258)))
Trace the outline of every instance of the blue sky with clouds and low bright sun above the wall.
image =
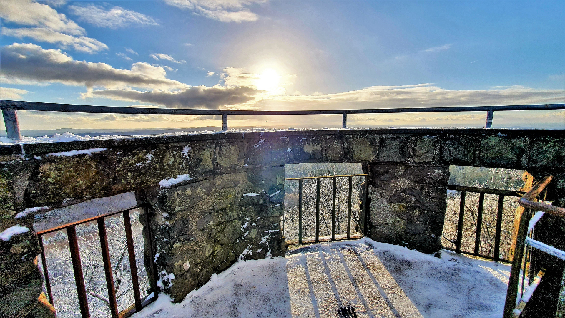
MULTIPOLYGON (((5 100, 312 110, 565 102, 563 1, 3 0, 5 100)), ((22 129, 220 126, 212 115, 18 111, 22 129)), ((340 127, 341 115, 230 116, 340 127)), ((349 115, 351 127, 482 127, 484 113, 349 115)), ((3 126, 2 126, 3 127, 3 126)), ((565 129, 565 111, 493 127, 565 129)))

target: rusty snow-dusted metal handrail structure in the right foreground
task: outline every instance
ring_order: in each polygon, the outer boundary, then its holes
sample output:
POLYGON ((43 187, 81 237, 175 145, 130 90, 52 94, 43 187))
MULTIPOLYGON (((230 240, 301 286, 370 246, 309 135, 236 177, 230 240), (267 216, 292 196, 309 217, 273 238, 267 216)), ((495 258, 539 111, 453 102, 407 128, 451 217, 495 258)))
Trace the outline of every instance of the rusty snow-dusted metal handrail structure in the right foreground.
POLYGON ((538 240, 536 224, 541 219, 544 213, 553 214, 558 217, 565 217, 565 209, 554 207, 540 201, 535 201, 541 192, 545 190, 547 185, 553 179, 552 176, 545 177, 542 181, 538 182, 526 194, 524 194, 518 203, 524 207, 524 211, 520 216, 520 224, 518 233, 516 233, 516 243, 514 247, 514 257, 512 260, 512 268, 510 270, 510 278, 508 282, 508 290, 506 292, 506 302, 504 306, 503 318, 519 317, 521 311, 524 309, 525 304, 528 302, 533 294, 533 290, 539 285, 542 279, 543 272, 534 277, 532 269, 532 251, 548 253, 565 260, 565 252, 560 251, 555 247, 546 245, 538 240), (537 211, 533 214, 532 211, 537 211), (518 300, 518 285, 520 283, 521 274, 521 292, 520 299, 518 300), (527 292, 524 293, 525 273, 528 273, 528 286, 527 292), (518 302, 518 306, 516 303, 518 302))

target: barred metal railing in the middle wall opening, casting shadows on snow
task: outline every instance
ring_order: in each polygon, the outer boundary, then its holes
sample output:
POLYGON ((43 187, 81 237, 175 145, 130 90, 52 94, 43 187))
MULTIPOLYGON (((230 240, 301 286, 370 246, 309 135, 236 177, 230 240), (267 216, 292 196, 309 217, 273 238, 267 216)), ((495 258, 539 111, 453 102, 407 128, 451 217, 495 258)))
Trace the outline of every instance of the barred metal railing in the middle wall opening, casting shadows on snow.
MULTIPOLYGON (((351 191, 353 184, 353 177, 365 177, 364 181, 364 196, 363 196, 363 211, 360 211, 363 222, 363 233, 367 233, 367 192, 368 192, 368 182, 367 174, 349 174, 349 175, 329 175, 327 177, 302 177, 302 178, 286 178, 285 181, 298 180, 298 241, 289 240, 286 244, 302 244, 302 182, 307 179, 316 179, 316 227, 315 227, 315 241, 320 242, 320 181, 325 178, 333 179, 332 187, 332 238, 336 239, 336 190, 337 190, 337 178, 349 178, 349 191, 347 196, 347 237, 345 239, 351 239, 351 191)), ((282 215, 282 234, 284 235, 285 229, 285 216, 282 215)))

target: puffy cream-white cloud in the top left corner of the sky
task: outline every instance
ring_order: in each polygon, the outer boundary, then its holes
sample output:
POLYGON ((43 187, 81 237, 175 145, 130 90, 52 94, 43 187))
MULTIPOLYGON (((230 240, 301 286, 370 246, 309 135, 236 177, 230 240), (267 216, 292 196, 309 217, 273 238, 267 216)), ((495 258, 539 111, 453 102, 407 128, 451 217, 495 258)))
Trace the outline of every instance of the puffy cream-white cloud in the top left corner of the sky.
POLYGON ((1 1, 0 17, 7 22, 29 26, 2 27, 2 35, 31 37, 36 41, 54 43, 62 48, 73 48, 86 53, 108 49, 106 44, 86 37, 85 29, 67 19, 64 14, 42 3, 31 0, 1 1))

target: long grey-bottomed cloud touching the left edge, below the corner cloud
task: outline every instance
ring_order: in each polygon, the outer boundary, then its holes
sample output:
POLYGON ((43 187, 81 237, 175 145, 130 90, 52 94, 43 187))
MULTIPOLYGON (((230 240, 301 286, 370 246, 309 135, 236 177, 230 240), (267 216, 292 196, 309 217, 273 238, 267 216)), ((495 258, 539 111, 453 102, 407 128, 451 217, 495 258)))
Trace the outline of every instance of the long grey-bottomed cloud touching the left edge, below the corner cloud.
POLYGON ((133 63, 131 70, 119 70, 106 63, 76 61, 61 50, 45 50, 31 43, 4 46, 1 63, 1 74, 7 79, 86 85, 88 88, 187 87, 179 81, 168 79, 162 67, 137 62, 133 63))

